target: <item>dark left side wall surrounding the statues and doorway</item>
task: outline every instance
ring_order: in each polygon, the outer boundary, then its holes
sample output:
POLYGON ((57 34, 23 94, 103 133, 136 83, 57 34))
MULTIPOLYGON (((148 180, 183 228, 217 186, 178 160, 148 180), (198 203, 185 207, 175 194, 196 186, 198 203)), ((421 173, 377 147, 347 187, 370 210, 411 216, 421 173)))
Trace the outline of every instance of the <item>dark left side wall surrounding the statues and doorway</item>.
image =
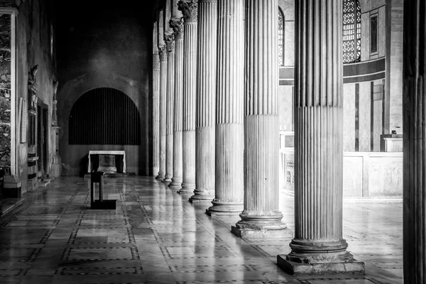
MULTIPOLYGON (((14 1, 13 1, 14 2, 14 1)), ((55 42, 52 28, 53 0, 21 1, 16 18, 16 121, 18 121, 18 98, 22 97, 28 104, 28 72, 38 65, 37 84, 38 99, 48 105, 51 117, 53 99, 53 81, 55 75, 55 50, 50 42, 55 42)), ((50 118, 49 118, 50 119, 50 118)), ((28 125, 28 121, 27 121, 28 125)), ((50 120, 48 125, 51 125, 50 120)), ((27 127, 28 131, 29 127, 27 127)), ((27 190, 28 177, 28 138, 21 143, 20 126, 16 127, 16 180, 21 181, 22 192, 27 190)), ((24 135, 28 136, 28 132, 24 135)), ((51 164, 54 153, 53 131, 48 128, 48 163, 51 164)))

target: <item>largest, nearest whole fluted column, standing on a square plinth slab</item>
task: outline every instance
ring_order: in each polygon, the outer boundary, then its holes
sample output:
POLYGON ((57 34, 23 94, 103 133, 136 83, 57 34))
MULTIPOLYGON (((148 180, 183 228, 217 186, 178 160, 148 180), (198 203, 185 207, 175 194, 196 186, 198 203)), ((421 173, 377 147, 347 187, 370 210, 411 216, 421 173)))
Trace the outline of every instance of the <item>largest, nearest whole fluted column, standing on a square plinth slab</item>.
POLYGON ((342 236, 342 1, 296 1, 295 11, 295 236, 278 266, 364 273, 342 236))

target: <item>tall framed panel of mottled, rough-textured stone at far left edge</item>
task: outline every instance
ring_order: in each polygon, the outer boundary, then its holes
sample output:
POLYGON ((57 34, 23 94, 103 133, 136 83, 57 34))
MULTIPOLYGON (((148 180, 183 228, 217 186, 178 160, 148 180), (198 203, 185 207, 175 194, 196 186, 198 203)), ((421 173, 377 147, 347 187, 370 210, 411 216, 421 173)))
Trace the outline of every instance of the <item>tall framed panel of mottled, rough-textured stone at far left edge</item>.
POLYGON ((11 15, 0 14, 0 167, 11 168, 11 15))

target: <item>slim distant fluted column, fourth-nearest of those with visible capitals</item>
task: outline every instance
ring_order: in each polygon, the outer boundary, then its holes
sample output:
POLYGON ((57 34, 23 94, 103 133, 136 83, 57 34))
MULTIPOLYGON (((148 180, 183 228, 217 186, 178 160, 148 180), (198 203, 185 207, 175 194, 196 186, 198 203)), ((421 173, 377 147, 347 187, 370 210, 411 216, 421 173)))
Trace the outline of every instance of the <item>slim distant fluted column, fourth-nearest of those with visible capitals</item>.
POLYGON ((160 57, 160 170, 158 180, 165 178, 165 101, 167 90, 167 51, 165 46, 158 48, 160 57))

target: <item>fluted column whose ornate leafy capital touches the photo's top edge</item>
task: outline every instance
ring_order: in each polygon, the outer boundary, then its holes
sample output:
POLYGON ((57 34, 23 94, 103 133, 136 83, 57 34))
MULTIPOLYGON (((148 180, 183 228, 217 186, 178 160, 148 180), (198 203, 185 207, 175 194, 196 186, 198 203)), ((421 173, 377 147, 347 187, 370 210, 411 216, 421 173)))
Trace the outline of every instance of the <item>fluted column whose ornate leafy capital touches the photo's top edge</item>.
POLYGON ((179 10, 184 19, 183 35, 183 132, 182 188, 178 191, 195 190, 195 90, 197 82, 197 0, 181 0, 179 10))

